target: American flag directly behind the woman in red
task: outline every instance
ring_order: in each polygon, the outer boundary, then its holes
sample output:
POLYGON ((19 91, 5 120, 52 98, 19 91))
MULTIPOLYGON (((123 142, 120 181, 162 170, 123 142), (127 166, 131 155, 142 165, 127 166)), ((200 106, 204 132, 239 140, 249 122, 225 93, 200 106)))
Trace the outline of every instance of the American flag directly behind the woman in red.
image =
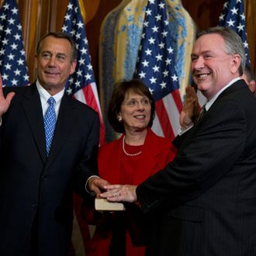
POLYGON ((168 25, 165 2, 148 0, 135 77, 144 81, 156 101, 152 129, 174 139, 180 127, 182 99, 168 25))

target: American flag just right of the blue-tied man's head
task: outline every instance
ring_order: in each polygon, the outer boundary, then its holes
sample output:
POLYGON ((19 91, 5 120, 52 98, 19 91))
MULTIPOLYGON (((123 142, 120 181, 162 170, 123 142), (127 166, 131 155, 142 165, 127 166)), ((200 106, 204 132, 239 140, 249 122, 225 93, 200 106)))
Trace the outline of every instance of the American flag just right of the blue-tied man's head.
POLYGON ((78 0, 70 0, 67 5, 66 15, 64 16, 64 25, 62 26, 62 32, 71 34, 78 47, 78 64, 74 74, 71 75, 67 82, 66 90, 68 94, 74 95, 74 98, 84 102, 99 113, 99 143, 102 145, 105 142, 105 128, 102 121, 99 94, 92 70, 85 22, 81 16, 81 9, 84 9, 84 6, 79 6, 78 0))

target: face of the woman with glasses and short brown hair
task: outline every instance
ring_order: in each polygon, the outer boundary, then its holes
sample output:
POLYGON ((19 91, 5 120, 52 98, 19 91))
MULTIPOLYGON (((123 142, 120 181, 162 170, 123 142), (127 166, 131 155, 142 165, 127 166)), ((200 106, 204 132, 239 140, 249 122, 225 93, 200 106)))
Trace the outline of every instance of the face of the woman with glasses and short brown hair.
POLYGON ((150 100, 147 96, 128 91, 117 118, 123 119, 126 133, 128 130, 133 132, 145 130, 150 122, 150 111, 150 100))

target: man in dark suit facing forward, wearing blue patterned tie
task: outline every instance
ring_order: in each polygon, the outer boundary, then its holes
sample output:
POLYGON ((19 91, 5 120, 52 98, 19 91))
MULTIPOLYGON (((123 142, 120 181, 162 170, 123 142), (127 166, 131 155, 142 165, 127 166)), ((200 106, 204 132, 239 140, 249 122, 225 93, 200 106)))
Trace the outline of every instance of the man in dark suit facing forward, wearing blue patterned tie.
POLYGON ((1 256, 67 255, 73 192, 85 198, 107 184, 94 176, 99 116, 64 93, 76 57, 70 36, 49 33, 37 46, 36 82, 20 88, 0 85, 1 256), (43 117, 50 96, 57 123, 48 153, 43 117))

